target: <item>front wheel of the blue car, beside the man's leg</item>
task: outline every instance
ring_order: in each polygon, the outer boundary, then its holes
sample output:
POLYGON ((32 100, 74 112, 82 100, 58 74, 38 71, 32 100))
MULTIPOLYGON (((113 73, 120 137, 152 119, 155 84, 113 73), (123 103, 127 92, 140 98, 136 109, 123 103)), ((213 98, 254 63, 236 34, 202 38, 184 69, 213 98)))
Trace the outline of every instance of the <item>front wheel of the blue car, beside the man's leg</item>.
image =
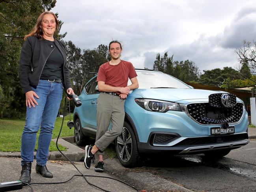
POLYGON ((133 129, 126 121, 123 124, 122 133, 116 138, 116 153, 120 163, 124 167, 135 167, 141 162, 138 145, 133 129))

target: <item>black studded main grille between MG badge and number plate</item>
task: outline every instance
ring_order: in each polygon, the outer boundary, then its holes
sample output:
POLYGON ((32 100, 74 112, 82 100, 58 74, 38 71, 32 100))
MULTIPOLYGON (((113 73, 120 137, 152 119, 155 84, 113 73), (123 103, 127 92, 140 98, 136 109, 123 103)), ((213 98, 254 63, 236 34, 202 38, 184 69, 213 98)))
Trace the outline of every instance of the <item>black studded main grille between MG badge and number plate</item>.
POLYGON ((234 123, 243 115, 243 104, 236 103, 226 108, 212 106, 209 103, 193 103, 187 105, 187 110, 195 121, 204 125, 234 123))

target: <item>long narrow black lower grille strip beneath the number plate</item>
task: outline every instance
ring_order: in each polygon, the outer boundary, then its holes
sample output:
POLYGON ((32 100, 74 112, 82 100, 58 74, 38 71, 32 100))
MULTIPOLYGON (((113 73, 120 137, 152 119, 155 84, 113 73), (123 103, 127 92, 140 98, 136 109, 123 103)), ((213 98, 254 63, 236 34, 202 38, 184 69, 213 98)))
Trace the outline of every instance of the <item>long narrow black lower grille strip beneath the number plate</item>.
POLYGON ((209 137, 197 137, 197 138, 187 138, 175 146, 178 145, 205 145, 205 144, 216 144, 222 142, 234 142, 239 140, 248 139, 248 134, 232 134, 223 136, 209 136, 209 137))

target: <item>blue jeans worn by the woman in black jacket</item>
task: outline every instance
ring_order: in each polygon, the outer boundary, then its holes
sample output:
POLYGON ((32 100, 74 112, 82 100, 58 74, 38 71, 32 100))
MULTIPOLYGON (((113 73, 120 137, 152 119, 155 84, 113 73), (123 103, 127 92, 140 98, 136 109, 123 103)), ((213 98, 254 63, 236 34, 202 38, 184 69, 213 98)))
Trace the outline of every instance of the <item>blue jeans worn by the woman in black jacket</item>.
POLYGON ((36 146, 36 133, 40 127, 38 147, 36 152, 36 162, 45 166, 49 153, 52 130, 62 100, 62 83, 39 80, 36 88, 32 87, 39 99, 35 108, 27 106, 26 123, 21 137, 21 166, 26 162, 33 162, 34 149, 36 146))

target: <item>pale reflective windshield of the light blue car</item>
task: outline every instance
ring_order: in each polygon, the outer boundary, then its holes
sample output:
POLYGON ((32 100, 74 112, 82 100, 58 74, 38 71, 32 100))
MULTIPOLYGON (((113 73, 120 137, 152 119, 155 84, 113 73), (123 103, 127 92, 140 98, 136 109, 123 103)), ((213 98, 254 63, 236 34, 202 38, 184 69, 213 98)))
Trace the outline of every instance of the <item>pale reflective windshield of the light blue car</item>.
MULTIPOLYGON (((157 71, 138 71, 137 79, 140 89, 148 88, 180 88, 191 89, 187 84, 174 78, 173 76, 157 71)), ((131 80, 128 80, 128 85, 131 85, 131 80)))

